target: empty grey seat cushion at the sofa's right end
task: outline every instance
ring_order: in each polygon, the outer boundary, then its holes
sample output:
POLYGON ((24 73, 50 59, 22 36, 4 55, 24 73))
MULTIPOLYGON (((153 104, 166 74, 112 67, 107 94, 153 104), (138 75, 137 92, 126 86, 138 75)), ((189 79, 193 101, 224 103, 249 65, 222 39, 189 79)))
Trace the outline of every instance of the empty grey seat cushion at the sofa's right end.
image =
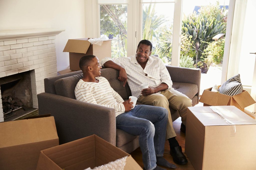
POLYGON ((189 99, 192 99, 198 92, 198 88, 196 84, 192 83, 177 83, 173 82, 172 86, 175 90, 178 90, 179 92, 185 94, 189 97, 189 99))

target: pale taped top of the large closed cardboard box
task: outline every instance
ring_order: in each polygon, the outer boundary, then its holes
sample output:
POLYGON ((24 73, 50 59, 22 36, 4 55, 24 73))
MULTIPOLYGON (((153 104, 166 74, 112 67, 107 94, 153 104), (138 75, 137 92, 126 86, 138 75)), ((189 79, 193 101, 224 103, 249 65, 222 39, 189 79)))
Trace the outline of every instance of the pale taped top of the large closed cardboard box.
POLYGON ((227 123, 222 116, 218 115, 210 107, 214 107, 226 120, 229 120, 235 125, 256 124, 256 120, 235 106, 204 106, 188 108, 204 126, 232 125, 227 123))

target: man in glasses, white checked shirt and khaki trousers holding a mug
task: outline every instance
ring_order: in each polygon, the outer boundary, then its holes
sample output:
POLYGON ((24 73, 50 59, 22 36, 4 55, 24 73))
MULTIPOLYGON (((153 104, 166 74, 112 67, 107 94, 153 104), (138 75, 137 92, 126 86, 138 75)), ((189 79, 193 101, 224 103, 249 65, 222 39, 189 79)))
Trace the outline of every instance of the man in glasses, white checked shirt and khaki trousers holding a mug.
POLYGON ((166 140, 168 139, 170 144, 170 154, 175 163, 186 164, 188 161, 175 139, 176 133, 173 129, 169 106, 179 111, 182 120, 180 130, 185 132, 186 110, 188 106, 192 106, 192 101, 172 88, 173 83, 167 68, 160 58, 150 56, 151 51, 152 43, 142 40, 138 44, 136 55, 115 58, 114 62, 107 57, 101 61, 101 65, 119 70, 119 80, 124 81, 124 85, 128 81, 132 95, 138 98, 138 102, 167 109, 166 140), (149 87, 141 91, 138 87, 143 83, 148 83, 149 87))

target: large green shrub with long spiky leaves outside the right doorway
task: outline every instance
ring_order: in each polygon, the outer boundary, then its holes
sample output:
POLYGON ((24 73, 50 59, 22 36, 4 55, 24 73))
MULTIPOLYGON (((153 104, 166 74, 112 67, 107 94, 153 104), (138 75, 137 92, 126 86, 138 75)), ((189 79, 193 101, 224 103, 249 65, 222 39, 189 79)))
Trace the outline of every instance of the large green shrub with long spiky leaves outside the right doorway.
POLYGON ((212 38, 219 33, 226 33, 226 22, 223 18, 223 10, 219 8, 219 3, 216 5, 207 5, 201 7, 199 14, 193 13, 182 20, 182 33, 192 38, 187 49, 191 52, 193 49, 194 59, 202 57, 202 53, 207 47, 207 42, 212 42, 212 38))

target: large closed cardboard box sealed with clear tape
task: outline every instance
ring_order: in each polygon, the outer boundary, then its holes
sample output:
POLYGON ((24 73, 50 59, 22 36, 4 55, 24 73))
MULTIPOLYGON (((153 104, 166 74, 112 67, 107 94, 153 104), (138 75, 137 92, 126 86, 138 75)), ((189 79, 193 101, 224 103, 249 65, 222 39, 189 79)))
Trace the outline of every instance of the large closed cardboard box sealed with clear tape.
POLYGON ((255 169, 256 120, 235 106, 188 107, 186 127, 185 153, 196 170, 255 169))

